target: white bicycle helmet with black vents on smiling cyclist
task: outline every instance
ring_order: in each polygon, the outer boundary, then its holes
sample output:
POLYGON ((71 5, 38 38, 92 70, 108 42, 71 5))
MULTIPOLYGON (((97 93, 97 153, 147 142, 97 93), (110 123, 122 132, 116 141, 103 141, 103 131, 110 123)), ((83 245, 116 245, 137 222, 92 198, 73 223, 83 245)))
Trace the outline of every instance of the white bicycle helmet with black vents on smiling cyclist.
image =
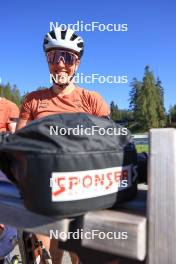
POLYGON ((84 43, 83 39, 77 36, 72 29, 63 30, 61 27, 55 27, 46 34, 43 48, 45 52, 56 48, 68 49, 78 54, 80 58, 83 54, 84 43))

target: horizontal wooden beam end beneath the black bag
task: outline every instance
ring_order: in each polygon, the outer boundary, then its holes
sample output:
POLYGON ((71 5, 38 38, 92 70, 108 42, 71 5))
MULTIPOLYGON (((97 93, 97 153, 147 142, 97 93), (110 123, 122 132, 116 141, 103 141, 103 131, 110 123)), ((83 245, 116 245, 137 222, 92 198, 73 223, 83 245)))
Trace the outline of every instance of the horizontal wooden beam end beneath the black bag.
POLYGON ((144 260, 146 256, 146 218, 143 216, 111 210, 90 212, 84 216, 83 230, 98 234, 92 239, 83 237, 84 247, 137 260, 144 260), (108 239, 108 232, 116 234, 118 239, 108 239), (122 239, 122 232, 126 232, 127 239, 122 239))

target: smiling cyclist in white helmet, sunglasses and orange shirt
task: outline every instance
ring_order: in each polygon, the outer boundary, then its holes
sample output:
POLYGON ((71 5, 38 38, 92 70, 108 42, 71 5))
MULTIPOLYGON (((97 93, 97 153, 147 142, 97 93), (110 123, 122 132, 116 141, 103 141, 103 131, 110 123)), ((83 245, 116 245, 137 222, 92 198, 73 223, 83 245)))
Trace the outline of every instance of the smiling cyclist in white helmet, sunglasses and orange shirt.
MULTIPOLYGON (((64 112, 109 116, 110 109, 97 92, 77 87, 73 81, 83 54, 83 39, 71 29, 62 30, 57 27, 45 36, 43 47, 53 77, 53 86, 26 96, 17 129, 32 120, 64 112)), ((57 241, 50 241, 48 237, 39 235, 37 238, 50 250, 53 264, 61 263, 57 241)), ((71 259, 72 263, 79 263, 75 254, 71 254, 71 259)))

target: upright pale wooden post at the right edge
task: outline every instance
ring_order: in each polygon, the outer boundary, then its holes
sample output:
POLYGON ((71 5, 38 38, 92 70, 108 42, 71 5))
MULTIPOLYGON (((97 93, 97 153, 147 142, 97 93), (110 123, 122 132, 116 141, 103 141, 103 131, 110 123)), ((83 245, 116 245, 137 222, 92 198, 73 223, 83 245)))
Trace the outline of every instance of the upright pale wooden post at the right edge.
POLYGON ((176 263, 176 130, 150 131, 148 263, 176 263))

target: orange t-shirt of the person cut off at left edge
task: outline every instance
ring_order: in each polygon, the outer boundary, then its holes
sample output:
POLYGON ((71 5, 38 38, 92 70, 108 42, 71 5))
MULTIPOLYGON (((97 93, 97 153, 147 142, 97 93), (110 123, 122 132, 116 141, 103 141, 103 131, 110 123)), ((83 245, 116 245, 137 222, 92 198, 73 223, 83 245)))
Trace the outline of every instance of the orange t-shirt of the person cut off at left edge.
POLYGON ((8 124, 16 122, 18 117, 18 106, 5 98, 0 98, 0 132, 8 131, 8 124))

